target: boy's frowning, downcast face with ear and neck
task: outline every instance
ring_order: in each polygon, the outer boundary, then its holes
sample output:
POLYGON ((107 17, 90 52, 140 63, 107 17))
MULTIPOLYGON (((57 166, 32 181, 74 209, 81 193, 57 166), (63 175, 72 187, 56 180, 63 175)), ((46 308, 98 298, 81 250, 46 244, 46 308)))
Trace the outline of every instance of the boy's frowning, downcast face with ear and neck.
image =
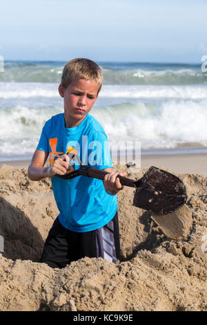
POLYGON ((75 78, 63 89, 59 85, 59 94, 64 99, 66 127, 77 127, 90 110, 98 97, 99 84, 94 80, 75 78))

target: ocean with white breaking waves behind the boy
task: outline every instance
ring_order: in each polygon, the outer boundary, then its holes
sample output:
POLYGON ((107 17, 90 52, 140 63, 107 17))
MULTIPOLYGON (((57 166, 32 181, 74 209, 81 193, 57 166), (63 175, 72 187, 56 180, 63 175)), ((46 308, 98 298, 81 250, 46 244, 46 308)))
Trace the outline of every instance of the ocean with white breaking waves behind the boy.
MULTIPOLYGON (((91 115, 108 140, 139 141, 144 154, 207 153, 207 77, 201 64, 97 62, 103 87, 91 115)), ((0 161, 30 159, 43 124, 63 112, 66 62, 4 62, 0 161)))

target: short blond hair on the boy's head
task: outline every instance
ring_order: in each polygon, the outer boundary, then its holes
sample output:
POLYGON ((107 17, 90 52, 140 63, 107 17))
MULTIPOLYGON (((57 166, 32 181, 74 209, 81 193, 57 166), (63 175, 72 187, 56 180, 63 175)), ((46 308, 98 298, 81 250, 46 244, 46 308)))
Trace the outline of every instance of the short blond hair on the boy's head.
POLYGON ((61 77, 63 88, 66 89, 75 78, 94 80, 99 84, 99 91, 101 90, 103 84, 101 68, 90 59, 72 59, 64 66, 61 77))

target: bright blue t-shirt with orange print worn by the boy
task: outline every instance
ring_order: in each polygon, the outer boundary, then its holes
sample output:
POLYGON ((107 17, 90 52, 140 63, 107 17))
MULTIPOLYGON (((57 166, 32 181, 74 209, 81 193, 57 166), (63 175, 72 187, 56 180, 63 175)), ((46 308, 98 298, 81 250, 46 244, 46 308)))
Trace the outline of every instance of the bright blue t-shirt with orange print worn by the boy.
MULTIPOLYGON (((64 114, 52 116, 44 125, 37 149, 55 156, 77 153, 83 165, 97 169, 113 167, 106 133, 90 114, 77 126, 65 127, 64 114)), ((77 160, 75 169, 79 168, 77 160)), ((117 196, 106 193, 102 180, 77 176, 65 180, 52 178, 52 189, 59 209, 59 222, 75 232, 89 232, 106 225, 117 212, 117 196)))

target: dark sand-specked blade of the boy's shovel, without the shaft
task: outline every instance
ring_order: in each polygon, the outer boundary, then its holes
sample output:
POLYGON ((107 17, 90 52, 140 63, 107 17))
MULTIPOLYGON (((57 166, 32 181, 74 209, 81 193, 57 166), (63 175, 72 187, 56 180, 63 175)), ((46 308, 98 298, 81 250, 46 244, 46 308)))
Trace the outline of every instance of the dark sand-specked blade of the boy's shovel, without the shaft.
POLYGON ((187 201, 184 183, 177 176, 154 166, 135 182, 135 186, 133 205, 156 214, 173 212, 187 201))

